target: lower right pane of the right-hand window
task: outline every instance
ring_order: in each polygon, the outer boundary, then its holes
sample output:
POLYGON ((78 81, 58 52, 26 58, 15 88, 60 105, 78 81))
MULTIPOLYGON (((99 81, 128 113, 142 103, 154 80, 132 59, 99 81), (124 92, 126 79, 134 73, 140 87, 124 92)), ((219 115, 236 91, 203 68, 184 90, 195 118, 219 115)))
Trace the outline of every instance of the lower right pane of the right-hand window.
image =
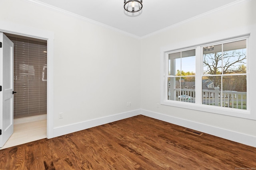
POLYGON ((246 76, 223 76, 222 106, 246 109, 246 76))

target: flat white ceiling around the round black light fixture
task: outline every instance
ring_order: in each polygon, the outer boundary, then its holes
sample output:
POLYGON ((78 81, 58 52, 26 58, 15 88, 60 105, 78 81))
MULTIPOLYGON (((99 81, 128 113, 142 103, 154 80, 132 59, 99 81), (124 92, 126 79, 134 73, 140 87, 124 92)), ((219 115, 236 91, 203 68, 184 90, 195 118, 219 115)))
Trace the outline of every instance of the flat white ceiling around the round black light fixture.
POLYGON ((136 17, 130 17, 124 13, 124 0, 29 1, 60 8, 137 37, 144 37, 206 12, 243 0, 143 0, 142 13, 136 17))

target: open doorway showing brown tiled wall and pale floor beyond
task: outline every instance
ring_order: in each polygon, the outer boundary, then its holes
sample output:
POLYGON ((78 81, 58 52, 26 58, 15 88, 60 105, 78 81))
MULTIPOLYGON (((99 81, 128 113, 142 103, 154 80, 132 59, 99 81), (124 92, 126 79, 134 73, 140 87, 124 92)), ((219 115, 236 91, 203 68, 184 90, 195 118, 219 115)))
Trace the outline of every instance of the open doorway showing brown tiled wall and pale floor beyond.
POLYGON ((47 41, 5 33, 14 43, 14 133, 4 149, 47 137, 47 41))

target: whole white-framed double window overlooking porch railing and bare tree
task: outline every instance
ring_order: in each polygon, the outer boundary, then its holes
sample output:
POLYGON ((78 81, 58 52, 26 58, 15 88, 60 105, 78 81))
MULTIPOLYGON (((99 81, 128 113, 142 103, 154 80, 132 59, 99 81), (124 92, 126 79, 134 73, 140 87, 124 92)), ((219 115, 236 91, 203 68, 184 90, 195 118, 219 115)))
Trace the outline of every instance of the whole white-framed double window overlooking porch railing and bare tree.
POLYGON ((163 54, 161 104, 227 115, 249 112, 248 36, 163 54))

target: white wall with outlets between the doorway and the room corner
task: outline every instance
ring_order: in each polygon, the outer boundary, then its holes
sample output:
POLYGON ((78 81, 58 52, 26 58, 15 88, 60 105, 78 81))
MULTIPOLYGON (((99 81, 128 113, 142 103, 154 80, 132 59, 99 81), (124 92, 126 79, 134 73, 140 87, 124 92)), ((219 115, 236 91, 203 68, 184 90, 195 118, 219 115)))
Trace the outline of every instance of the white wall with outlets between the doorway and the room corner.
POLYGON ((140 109, 140 40, 22 0, 0 6, 0 21, 54 33, 54 128, 140 109))

